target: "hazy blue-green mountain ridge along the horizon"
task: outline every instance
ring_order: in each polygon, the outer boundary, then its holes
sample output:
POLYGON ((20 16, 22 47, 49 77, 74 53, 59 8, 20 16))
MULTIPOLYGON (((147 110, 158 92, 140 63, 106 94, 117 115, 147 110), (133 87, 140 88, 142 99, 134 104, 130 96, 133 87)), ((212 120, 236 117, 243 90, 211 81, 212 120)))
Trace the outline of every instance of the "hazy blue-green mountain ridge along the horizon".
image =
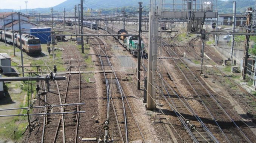
MULTIPOLYGON (((83 7, 86 9, 93 9, 93 11, 102 11, 102 13, 115 12, 116 7, 118 7, 118 11, 120 12, 123 7, 126 7, 126 12, 134 12, 137 11, 138 2, 143 2, 143 10, 149 11, 149 0, 94 0, 90 2, 89 0, 84 0, 83 7)), ((74 11, 74 5, 78 5, 80 0, 66 0, 65 2, 60 3, 59 5, 53 6, 54 11, 63 12, 63 8, 65 11, 74 11)), ((254 0, 236 0, 236 13, 244 12, 246 8, 249 6, 254 9, 255 1, 254 0)), ((233 0, 228 0, 227 2, 218 0, 217 8, 219 9, 219 14, 227 14, 233 13, 233 0)), ((11 12, 11 9, 1 9, 1 12, 11 12)), ((28 11, 32 12, 32 9, 28 9, 28 11)), ((36 8, 36 12, 40 13, 50 13, 51 8, 36 8)), ((25 13, 26 10, 22 9, 21 12, 25 13)))

